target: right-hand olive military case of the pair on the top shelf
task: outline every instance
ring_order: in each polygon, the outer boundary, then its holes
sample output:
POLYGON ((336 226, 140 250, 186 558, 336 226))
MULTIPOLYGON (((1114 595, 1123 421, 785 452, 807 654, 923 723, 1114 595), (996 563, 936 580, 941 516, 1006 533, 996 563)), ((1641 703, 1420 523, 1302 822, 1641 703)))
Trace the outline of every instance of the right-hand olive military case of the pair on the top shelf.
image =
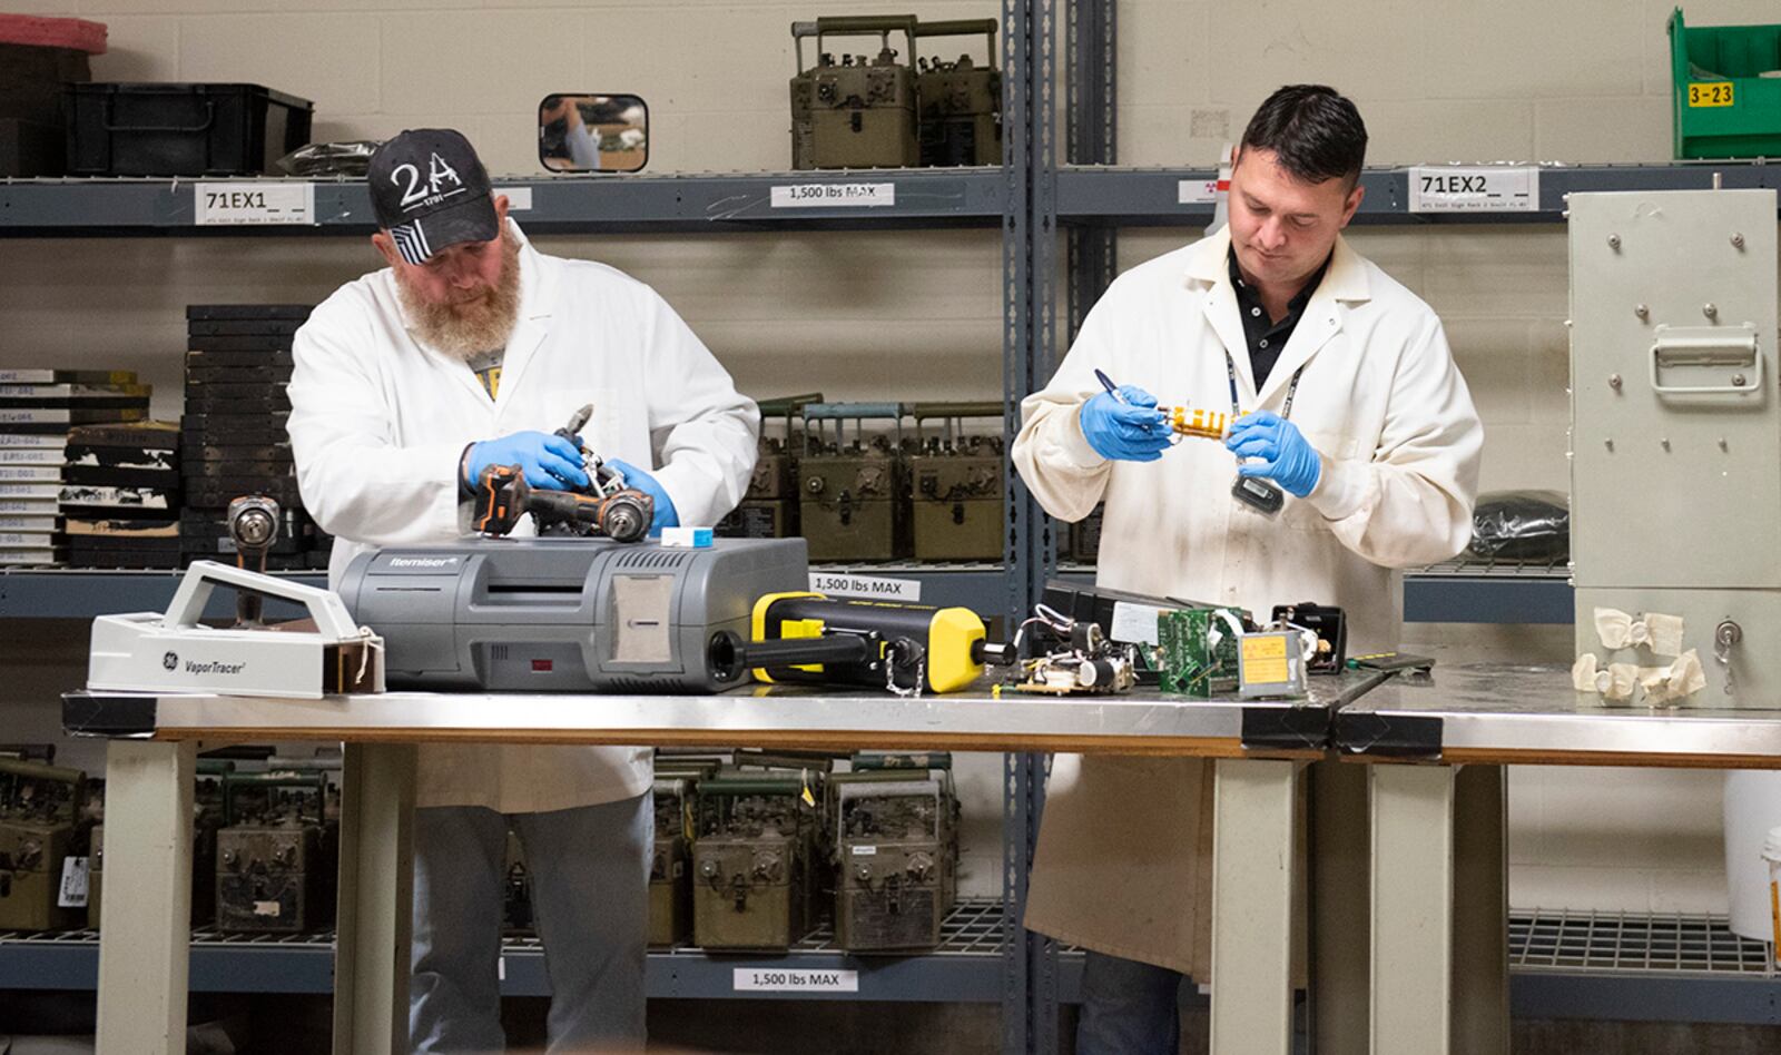
POLYGON ((969 53, 953 62, 923 57, 915 64, 917 128, 924 166, 1001 164, 1001 71, 996 70, 996 20, 923 21, 915 37, 983 34, 983 64, 969 53))

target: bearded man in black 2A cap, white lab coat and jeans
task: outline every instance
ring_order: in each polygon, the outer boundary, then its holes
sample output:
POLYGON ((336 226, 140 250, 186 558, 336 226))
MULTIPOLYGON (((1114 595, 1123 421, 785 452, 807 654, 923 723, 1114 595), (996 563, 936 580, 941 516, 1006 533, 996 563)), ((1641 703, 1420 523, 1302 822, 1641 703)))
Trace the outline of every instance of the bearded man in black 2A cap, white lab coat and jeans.
MULTIPOLYGON (((329 585, 372 545, 459 538, 490 465, 586 485, 550 431, 588 403, 584 440, 655 499, 655 531, 736 506, 760 415, 655 290, 534 249, 458 132, 403 132, 369 182, 388 267, 328 298, 292 348, 290 444, 303 501, 337 536, 329 585)), ((650 779, 643 747, 420 748, 417 1051, 504 1046, 509 825, 547 950, 550 1050, 641 1048, 650 779)))

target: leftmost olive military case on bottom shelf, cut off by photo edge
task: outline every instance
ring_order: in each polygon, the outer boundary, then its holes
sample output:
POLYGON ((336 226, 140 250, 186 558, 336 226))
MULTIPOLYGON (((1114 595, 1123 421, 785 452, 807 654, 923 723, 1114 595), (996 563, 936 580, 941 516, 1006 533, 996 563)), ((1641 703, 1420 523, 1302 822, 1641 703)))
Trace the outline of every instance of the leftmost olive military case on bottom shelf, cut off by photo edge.
POLYGON ((62 861, 77 852, 87 775, 66 766, 0 759, 0 930, 62 930, 62 861))

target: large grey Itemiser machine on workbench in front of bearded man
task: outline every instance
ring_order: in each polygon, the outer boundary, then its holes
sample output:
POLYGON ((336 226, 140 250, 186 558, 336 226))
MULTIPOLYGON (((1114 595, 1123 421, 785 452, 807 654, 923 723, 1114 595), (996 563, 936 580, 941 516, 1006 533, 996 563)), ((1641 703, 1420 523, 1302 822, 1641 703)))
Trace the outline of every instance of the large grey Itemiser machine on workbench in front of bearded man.
POLYGON ((666 549, 611 538, 467 538, 358 554, 347 609, 388 642, 392 684, 488 691, 720 691, 720 631, 810 583, 801 538, 666 549))

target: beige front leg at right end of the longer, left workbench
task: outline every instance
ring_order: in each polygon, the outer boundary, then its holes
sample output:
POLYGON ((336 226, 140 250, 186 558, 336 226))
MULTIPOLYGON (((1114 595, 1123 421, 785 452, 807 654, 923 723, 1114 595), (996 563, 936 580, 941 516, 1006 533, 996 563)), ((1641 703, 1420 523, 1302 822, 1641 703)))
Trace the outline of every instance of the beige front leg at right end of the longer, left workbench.
POLYGON ((1220 759, 1213 791, 1215 1055, 1293 1048, 1293 820, 1298 763, 1220 759))

